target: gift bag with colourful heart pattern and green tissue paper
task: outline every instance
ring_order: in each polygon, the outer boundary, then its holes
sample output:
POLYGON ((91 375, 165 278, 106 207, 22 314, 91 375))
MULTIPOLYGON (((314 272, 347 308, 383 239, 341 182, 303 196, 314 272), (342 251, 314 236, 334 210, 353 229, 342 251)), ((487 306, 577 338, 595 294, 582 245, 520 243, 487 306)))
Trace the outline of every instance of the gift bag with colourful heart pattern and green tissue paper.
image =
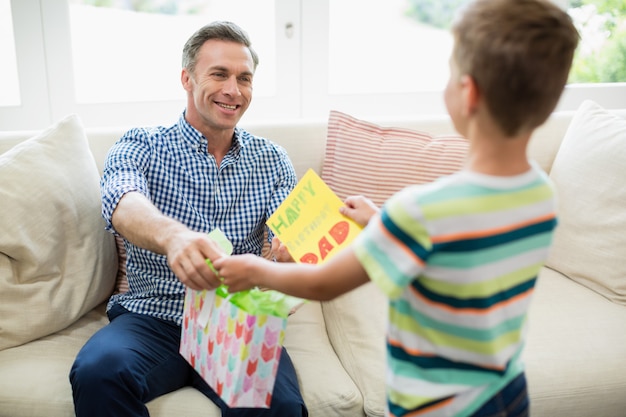
POLYGON ((187 288, 180 354, 229 407, 269 408, 287 317, 302 301, 277 291, 187 288))

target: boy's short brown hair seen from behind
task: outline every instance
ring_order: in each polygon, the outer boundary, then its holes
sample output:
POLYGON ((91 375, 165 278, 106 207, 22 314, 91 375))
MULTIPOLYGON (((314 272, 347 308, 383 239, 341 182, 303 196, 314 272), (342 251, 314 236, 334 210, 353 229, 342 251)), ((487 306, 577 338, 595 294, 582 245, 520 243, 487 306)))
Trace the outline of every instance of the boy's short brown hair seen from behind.
POLYGON ((476 0, 452 28, 453 59, 471 76, 507 136, 556 107, 578 45, 571 18, 548 0, 476 0))

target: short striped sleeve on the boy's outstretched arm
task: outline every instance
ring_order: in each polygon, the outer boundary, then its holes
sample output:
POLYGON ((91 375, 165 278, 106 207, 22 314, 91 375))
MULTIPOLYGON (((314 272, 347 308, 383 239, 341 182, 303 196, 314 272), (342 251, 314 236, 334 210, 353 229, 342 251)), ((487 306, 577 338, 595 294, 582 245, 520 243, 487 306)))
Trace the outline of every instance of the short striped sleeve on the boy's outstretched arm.
POLYGON ((432 243, 410 190, 392 197, 353 242, 372 280, 390 299, 398 298, 425 268, 432 243))

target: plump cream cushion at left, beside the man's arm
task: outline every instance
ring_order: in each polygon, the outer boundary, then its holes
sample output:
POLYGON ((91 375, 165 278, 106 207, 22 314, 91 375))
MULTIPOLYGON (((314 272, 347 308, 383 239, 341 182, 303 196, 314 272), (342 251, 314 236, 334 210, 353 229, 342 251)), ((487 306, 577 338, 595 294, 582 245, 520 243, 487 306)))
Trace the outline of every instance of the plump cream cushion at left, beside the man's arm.
POLYGON ((117 255, 78 117, 0 155, 0 350, 61 330, 105 300, 117 255))

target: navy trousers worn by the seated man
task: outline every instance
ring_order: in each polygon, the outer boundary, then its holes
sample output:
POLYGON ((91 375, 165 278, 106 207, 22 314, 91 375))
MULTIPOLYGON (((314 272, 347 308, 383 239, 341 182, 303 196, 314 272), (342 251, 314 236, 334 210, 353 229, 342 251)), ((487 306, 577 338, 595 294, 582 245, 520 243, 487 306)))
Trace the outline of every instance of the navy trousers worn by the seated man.
POLYGON ((149 416, 148 401, 184 386, 210 398, 224 417, 308 416, 285 349, 271 408, 229 408, 178 353, 181 328, 175 323, 121 306, 111 308, 109 319, 83 346, 70 371, 77 417, 149 416))

